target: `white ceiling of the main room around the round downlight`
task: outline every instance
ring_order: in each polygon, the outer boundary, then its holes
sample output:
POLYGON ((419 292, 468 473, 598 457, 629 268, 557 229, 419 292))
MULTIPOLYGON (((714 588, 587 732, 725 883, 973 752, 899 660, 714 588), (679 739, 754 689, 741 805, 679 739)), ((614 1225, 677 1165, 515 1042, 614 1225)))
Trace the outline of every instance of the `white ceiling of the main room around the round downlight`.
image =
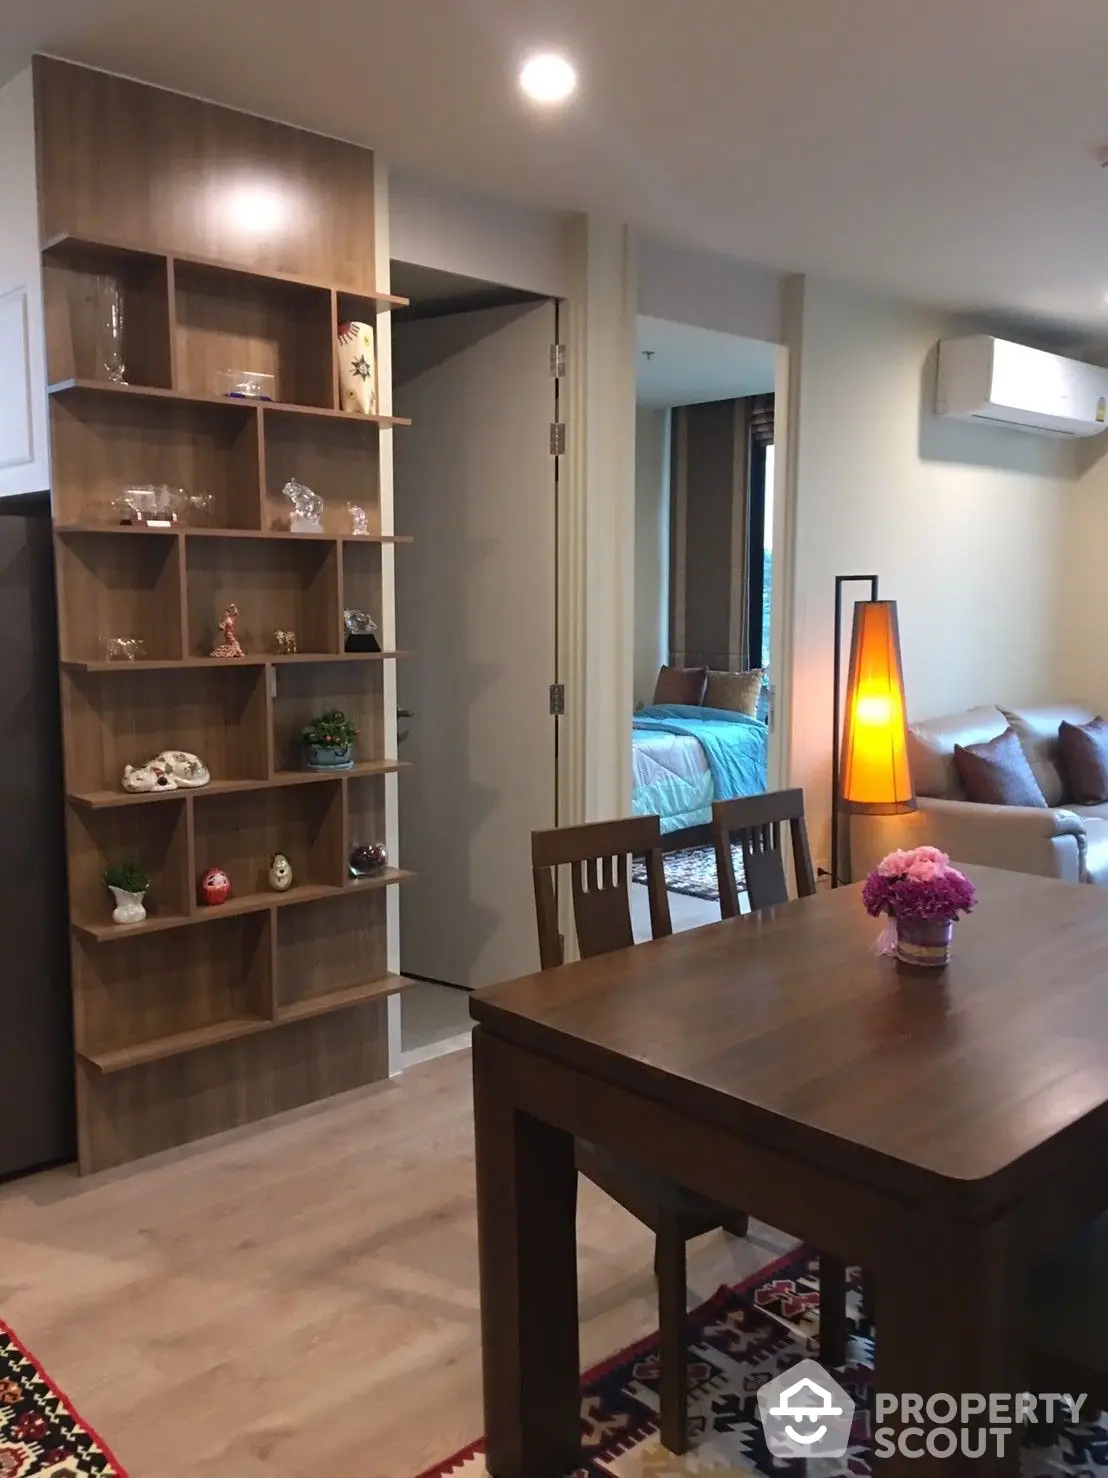
POLYGON ((793 270, 1108 328, 1104 0, 1 0, 34 47, 793 270), (558 118, 514 92, 561 44, 558 118))

